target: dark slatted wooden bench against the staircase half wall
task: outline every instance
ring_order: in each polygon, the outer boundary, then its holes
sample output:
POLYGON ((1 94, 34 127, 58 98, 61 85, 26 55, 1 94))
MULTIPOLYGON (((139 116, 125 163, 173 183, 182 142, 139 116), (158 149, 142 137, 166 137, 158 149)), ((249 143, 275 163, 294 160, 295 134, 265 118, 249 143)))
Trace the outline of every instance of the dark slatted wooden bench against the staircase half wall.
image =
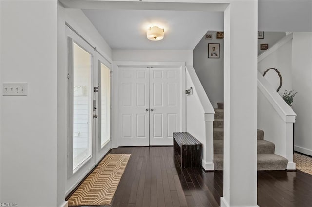
POLYGON ((188 132, 174 132, 174 150, 181 157, 181 167, 202 167, 202 143, 188 132))

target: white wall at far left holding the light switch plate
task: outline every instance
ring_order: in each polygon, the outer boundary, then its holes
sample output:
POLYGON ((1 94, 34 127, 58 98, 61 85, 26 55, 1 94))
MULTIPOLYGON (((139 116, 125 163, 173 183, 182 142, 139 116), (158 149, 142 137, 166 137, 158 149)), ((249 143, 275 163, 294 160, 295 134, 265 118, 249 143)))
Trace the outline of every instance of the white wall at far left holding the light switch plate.
POLYGON ((1 202, 57 206, 57 1, 1 1, 1 202))

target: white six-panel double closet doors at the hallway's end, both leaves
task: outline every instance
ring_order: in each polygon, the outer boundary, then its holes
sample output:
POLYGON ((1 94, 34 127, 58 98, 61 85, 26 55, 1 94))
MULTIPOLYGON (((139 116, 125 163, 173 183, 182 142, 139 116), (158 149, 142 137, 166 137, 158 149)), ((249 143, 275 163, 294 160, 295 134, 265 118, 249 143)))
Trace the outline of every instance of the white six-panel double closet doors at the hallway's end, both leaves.
POLYGON ((173 145, 181 93, 181 68, 119 68, 119 145, 173 145))

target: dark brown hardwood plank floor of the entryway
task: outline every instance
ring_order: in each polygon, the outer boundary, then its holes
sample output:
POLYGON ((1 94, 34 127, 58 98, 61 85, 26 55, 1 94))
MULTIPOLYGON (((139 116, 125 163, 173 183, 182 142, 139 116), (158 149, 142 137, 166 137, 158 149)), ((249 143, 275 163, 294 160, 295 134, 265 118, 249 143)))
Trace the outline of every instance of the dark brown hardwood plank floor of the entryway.
MULTIPOLYGON (((131 153, 112 207, 218 207, 223 171, 181 169, 173 147, 120 147, 131 153)), ((260 207, 311 207, 312 175, 301 171, 258 171, 260 207)), ((94 206, 93 206, 94 207, 94 206)), ((103 206, 101 206, 103 207, 103 206)))

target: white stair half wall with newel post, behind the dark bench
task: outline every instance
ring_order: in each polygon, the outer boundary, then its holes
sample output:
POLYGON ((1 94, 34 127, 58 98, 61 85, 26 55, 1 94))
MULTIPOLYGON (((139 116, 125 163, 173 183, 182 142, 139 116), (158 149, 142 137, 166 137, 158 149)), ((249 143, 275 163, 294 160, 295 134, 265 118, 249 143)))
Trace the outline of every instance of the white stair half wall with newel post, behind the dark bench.
POLYGON ((186 96, 186 129, 203 144, 203 168, 214 170, 213 121, 215 110, 201 85, 193 66, 186 67, 186 89, 192 87, 192 94, 186 96))

